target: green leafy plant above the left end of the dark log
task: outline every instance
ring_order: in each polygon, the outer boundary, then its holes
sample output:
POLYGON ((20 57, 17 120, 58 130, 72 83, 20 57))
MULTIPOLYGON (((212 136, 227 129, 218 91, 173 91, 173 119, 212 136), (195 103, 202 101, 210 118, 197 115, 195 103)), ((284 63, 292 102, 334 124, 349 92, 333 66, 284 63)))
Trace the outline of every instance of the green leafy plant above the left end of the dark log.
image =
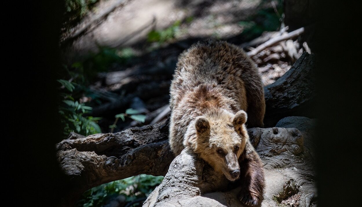
MULTIPOLYGON (((58 80, 58 82, 69 92, 73 92, 77 85, 67 80, 58 80)), ((63 104, 59 106, 59 113, 62 116, 61 122, 65 136, 69 135, 70 132, 76 132, 84 136, 102 132, 97 124, 101 118, 84 115, 92 111, 92 107, 75 101, 70 93, 62 93, 61 95, 64 100, 62 101, 63 104)))

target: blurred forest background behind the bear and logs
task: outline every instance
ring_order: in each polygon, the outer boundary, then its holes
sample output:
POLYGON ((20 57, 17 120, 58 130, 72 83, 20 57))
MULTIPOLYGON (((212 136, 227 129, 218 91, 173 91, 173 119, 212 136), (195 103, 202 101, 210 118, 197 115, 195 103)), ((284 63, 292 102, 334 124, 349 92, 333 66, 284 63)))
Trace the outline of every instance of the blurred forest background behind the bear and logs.
MULTIPOLYGON (((167 119, 178 55, 197 41, 219 39, 244 48, 264 85, 274 83, 303 52, 313 52, 313 1, 64 3, 57 75, 62 139, 70 132, 114 133, 167 119)), ((139 175, 107 183, 85 192, 77 205, 142 206, 162 179, 139 175)))

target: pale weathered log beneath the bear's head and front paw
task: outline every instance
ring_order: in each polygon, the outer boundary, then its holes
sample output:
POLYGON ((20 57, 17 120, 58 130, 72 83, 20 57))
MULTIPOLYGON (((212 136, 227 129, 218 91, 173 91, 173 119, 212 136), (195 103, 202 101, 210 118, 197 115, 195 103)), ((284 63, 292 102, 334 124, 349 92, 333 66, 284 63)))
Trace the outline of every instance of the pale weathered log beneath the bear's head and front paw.
MULTIPOLYGON (((315 204, 313 199, 317 191, 310 153, 313 148, 313 120, 291 117, 291 121, 296 121, 297 125, 303 122, 306 131, 276 127, 248 130, 264 162, 266 187, 261 206, 289 203, 290 206, 309 207, 315 204)), ((284 120, 279 125, 286 122, 284 120)), ((172 161, 163 182, 150 194, 143 207, 244 206, 237 199, 241 189, 235 186, 232 189, 232 186, 233 183, 223 175, 217 174, 204 161, 184 149, 172 161)))

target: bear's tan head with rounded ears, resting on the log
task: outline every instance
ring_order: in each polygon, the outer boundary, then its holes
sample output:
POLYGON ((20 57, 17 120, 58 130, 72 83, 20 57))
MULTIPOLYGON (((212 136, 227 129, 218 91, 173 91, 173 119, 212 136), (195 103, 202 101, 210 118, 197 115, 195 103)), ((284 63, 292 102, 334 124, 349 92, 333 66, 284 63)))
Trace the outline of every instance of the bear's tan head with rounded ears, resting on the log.
POLYGON ((247 114, 218 110, 195 118, 185 134, 184 145, 230 181, 240 175, 239 157, 247 139, 247 114))

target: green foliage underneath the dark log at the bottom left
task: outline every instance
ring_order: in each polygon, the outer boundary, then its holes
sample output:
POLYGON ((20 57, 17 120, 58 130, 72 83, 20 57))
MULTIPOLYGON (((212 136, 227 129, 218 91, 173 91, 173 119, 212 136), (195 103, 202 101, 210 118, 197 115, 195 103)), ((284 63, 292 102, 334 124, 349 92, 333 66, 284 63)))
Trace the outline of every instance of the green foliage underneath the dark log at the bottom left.
POLYGON ((109 199, 118 195, 125 195, 126 202, 138 198, 146 198, 163 180, 163 176, 150 176, 141 174, 130 178, 106 183, 85 191, 77 206, 102 206, 109 199))

